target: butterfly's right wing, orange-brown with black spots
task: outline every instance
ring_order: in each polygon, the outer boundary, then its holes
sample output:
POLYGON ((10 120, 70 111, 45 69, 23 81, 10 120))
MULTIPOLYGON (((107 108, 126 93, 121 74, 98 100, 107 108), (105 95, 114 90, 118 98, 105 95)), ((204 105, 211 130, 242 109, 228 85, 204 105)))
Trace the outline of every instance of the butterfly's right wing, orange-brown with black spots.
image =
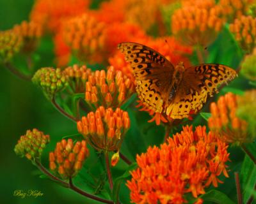
POLYGON ((182 119, 190 112, 198 112, 208 96, 218 92, 218 86, 227 84, 236 76, 234 69, 222 64, 200 64, 185 69, 175 98, 166 108, 167 115, 182 119))

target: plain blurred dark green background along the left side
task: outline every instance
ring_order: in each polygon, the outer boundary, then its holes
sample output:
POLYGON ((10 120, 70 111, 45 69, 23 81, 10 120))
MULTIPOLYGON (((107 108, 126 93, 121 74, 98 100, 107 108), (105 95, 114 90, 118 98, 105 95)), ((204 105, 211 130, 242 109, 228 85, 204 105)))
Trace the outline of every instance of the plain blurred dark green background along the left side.
MULTIPOLYGON (((0 30, 28 20, 32 5, 33 0, 1 0, 0 30)), ((35 85, 20 80, 0 66, 1 203, 92 203, 51 180, 40 179, 36 167, 28 159, 15 155, 13 148, 27 129, 38 128, 51 135, 52 143, 45 149, 46 154, 62 136, 76 133, 76 124, 57 112, 35 85), (13 192, 19 189, 38 190, 44 195, 24 199, 13 196, 13 192)), ((47 159, 45 154, 44 160, 47 159)))

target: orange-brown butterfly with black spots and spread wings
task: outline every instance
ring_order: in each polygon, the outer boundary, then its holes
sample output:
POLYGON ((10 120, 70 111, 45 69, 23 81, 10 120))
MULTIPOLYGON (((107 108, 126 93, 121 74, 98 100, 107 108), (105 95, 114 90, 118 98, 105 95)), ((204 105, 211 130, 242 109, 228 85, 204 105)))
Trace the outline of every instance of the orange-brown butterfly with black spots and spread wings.
POLYGON ((150 47, 138 43, 120 43, 125 61, 131 63, 140 100, 150 110, 166 113, 172 119, 198 112, 218 86, 237 76, 234 69, 222 64, 177 66, 150 47))

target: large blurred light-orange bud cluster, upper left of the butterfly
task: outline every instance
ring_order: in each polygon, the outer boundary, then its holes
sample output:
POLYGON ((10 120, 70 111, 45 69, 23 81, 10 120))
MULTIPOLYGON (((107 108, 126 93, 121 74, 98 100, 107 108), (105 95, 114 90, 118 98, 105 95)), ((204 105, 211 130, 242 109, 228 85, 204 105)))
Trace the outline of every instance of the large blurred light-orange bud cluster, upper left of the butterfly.
POLYGON ((102 62, 105 25, 87 14, 74 17, 65 25, 64 39, 78 59, 84 62, 102 62))

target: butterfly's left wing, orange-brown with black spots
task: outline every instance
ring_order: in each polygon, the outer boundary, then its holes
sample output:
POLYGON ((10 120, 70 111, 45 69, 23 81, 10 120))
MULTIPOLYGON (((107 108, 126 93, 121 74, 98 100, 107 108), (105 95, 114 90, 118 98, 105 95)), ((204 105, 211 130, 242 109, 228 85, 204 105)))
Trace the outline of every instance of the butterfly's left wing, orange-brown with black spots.
POLYGON ((173 77, 172 63, 156 50, 138 43, 120 43, 118 49, 131 63, 141 101, 155 112, 162 112, 173 77))

